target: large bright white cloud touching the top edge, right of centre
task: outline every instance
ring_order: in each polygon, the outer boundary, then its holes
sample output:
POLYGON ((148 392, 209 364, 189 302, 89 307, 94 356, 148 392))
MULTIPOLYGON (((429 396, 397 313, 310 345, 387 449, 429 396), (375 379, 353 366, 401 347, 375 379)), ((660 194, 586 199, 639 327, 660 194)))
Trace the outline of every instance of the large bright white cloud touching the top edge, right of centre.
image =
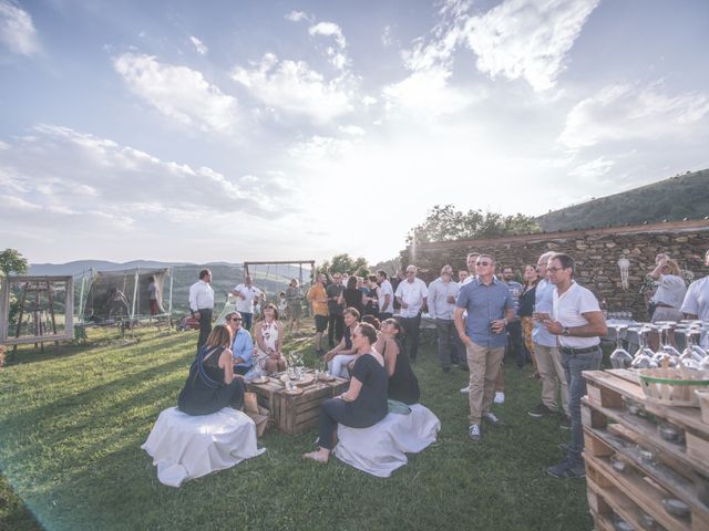
POLYGON ((505 0, 465 23, 481 72, 551 88, 564 60, 600 0, 505 0))

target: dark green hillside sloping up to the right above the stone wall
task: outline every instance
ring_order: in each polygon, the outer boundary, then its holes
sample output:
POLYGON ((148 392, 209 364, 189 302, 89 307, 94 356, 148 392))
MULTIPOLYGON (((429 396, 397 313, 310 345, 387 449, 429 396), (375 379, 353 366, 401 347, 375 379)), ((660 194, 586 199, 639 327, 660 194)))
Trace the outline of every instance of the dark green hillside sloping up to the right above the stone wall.
POLYGON ((544 230, 555 231, 705 216, 709 216, 709 169, 562 208, 540 216, 536 221, 544 230))

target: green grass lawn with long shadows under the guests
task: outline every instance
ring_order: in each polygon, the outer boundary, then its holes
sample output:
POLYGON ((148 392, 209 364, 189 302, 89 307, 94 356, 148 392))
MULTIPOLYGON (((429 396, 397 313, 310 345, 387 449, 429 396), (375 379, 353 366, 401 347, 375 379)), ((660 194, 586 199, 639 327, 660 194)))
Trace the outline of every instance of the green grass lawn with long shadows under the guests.
MULTIPOLYGON (((174 489, 157 481, 140 446, 176 403, 196 332, 144 329, 134 344, 103 334, 89 346, 25 350, 0 373, 0 529, 34 529, 8 485, 49 530, 593 528, 586 482, 546 475, 568 431, 526 414, 540 394, 526 372, 506 371, 507 400, 494 410, 508 426, 475 445, 459 392, 467 373, 442 373, 425 346, 415 366, 421 402, 442 429, 391 478, 337 459, 305 462, 315 430, 269 428, 263 456, 174 489)), ((307 341, 289 344, 311 352, 307 341)))

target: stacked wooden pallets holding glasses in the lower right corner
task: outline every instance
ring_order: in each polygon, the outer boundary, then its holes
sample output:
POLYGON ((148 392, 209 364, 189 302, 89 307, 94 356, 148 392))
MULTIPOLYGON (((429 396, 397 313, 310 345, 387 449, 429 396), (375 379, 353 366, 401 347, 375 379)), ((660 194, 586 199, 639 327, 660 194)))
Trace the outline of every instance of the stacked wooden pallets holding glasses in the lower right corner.
POLYGON ((701 423, 699 410, 648 403, 636 375, 627 371, 586 372, 584 377, 588 384, 582 400, 584 458, 597 529, 609 522, 613 529, 614 513, 644 529, 645 512, 668 530, 709 530, 709 504, 700 496, 709 478, 709 460, 701 447, 709 441, 709 425, 701 423), (643 405, 645 416, 630 414, 624 397, 643 405), (682 428, 687 442, 664 440, 657 421, 682 428), (700 445, 692 445, 690 435, 700 445), (640 449, 650 450, 655 461, 644 460, 640 449), (626 464, 623 472, 613 467, 612 456, 626 464), (665 498, 686 502, 691 517, 685 520, 668 513, 665 498))

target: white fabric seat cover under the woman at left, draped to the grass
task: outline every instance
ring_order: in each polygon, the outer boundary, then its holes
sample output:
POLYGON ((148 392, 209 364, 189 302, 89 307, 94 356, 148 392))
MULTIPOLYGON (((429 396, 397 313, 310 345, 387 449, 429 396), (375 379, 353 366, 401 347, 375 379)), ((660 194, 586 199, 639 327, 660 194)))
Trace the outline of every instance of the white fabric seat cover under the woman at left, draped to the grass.
POLYGON ((189 416, 176 407, 163 410, 141 446, 157 466, 157 479, 179 487, 194 479, 256 457, 256 425, 247 415, 225 407, 212 415, 189 416))

